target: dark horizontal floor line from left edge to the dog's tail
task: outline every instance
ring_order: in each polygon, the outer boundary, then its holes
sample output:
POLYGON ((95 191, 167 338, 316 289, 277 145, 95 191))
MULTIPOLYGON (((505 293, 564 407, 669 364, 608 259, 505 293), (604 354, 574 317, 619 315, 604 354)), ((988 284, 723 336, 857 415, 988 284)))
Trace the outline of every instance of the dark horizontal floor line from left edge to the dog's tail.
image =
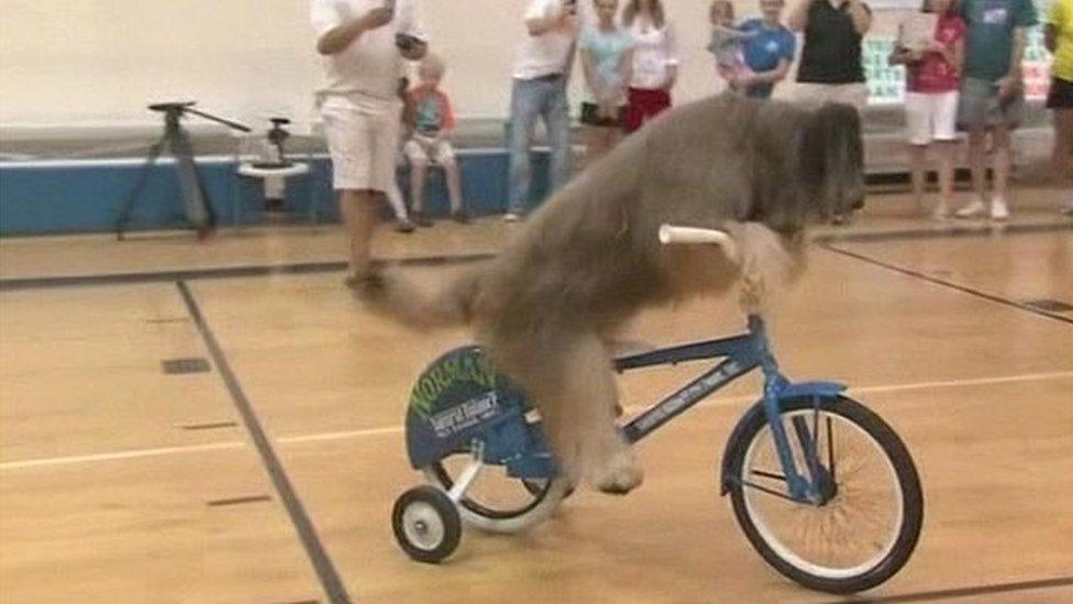
MULTIPOLYGON (((495 254, 457 254, 391 259, 386 262, 402 266, 439 266, 487 260, 495 254)), ((136 285, 143 283, 175 283, 196 279, 265 277, 273 275, 311 275, 338 273, 346 270, 345 262, 303 262, 295 264, 226 266, 190 271, 158 271, 148 273, 104 273, 67 277, 32 277, 0 279, 0 292, 47 289, 52 287, 87 287, 97 285, 136 285)))

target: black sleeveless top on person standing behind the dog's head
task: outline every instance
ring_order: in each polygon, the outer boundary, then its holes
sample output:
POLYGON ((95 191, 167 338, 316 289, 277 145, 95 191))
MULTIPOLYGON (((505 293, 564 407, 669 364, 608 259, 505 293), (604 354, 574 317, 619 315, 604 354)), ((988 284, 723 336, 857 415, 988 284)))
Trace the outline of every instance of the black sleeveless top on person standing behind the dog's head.
MULTIPOLYGON (((872 9, 864 4, 864 9, 872 9)), ((849 2, 838 8, 828 0, 814 0, 808 7, 805 47, 797 68, 797 81, 815 84, 854 84, 864 81, 861 65, 861 39, 853 28, 849 2)))

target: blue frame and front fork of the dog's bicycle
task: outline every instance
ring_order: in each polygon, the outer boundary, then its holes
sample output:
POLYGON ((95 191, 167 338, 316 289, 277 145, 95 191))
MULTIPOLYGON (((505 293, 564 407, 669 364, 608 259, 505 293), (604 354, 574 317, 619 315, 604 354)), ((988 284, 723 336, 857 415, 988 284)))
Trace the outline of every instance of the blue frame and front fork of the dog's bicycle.
POLYGON ((724 360, 623 426, 622 432, 627 440, 631 444, 641 440, 708 395, 760 367, 764 375, 764 395, 761 403, 775 440, 788 495, 800 503, 826 503, 829 474, 818 459, 816 435, 809 438, 808 426, 804 420, 794 422, 810 476, 807 479, 797 471, 794 463, 789 438, 779 420, 778 402, 788 395, 812 395, 818 400, 820 396, 837 394, 844 386, 832 383, 790 384, 778 371, 778 364, 768 347, 766 327, 760 316, 749 316, 749 331, 745 333, 621 356, 615 360, 615 370, 622 373, 641 367, 719 358, 724 360))

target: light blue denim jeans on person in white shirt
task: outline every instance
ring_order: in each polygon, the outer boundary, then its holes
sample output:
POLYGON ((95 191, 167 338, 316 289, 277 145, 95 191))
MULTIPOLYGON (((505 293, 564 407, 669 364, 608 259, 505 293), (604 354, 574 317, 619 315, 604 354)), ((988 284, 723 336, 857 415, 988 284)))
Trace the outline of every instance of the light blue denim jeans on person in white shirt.
POLYGON ((524 213, 529 202, 532 144, 536 118, 544 120, 551 145, 549 190, 554 191, 569 178, 569 107, 563 78, 515 79, 510 92, 510 190, 507 211, 524 213))

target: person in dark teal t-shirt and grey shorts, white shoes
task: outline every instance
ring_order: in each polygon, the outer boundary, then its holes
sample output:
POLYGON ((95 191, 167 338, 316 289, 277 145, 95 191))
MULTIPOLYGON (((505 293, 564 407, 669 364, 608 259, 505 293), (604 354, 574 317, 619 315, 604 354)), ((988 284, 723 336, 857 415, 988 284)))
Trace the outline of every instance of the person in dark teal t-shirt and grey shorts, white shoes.
POLYGON ((1036 24, 1036 7, 1032 0, 962 0, 961 15, 969 31, 958 125, 969 132, 974 196, 956 216, 973 218, 988 211, 985 188, 989 134, 995 177, 991 218, 1006 220, 1009 218, 1010 131, 1020 123, 1025 108, 1021 59, 1028 28, 1036 24))

